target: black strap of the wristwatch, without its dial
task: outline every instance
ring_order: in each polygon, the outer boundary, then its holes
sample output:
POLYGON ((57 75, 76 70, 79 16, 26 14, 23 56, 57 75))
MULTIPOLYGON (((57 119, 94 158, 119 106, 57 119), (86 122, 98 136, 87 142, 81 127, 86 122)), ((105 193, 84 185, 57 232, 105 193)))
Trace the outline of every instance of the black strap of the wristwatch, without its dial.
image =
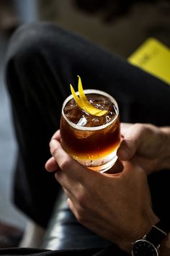
POLYGON ((155 247, 161 243, 162 239, 167 236, 166 231, 164 231, 164 224, 159 221, 155 226, 152 226, 151 231, 146 234, 143 238, 151 242, 155 247))

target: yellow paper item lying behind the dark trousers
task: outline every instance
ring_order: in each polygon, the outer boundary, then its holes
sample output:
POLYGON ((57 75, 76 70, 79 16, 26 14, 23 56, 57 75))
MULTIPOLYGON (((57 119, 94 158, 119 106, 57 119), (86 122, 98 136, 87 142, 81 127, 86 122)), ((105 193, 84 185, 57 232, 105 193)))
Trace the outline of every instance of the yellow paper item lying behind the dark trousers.
POLYGON ((148 38, 128 61, 170 85, 170 48, 156 38, 148 38))

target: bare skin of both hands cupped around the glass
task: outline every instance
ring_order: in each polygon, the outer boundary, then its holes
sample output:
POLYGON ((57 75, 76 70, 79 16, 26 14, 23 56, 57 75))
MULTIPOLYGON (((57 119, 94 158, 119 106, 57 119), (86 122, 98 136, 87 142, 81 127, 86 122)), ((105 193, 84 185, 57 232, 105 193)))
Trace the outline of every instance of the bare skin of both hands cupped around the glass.
MULTIPOLYGON (((77 220, 130 253, 131 243, 158 222, 147 175, 169 168, 170 132, 168 127, 151 124, 122 124, 121 133, 117 150, 121 165, 114 166, 109 174, 91 171, 74 161, 61 147, 59 131, 50 141, 52 158, 45 168, 55 171, 77 220)), ((168 255, 166 242, 164 248, 161 254, 168 255)))

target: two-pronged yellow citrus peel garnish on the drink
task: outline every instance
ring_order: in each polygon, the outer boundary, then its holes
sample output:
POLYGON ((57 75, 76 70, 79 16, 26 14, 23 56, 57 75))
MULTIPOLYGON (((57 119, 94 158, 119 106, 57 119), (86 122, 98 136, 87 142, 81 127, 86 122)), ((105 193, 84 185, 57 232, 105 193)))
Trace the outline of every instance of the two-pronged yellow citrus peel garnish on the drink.
POLYGON ((86 98, 86 95, 84 94, 84 89, 83 89, 80 77, 79 77, 79 83, 78 83, 79 96, 76 95, 75 90, 73 89, 73 86, 70 85, 70 87, 71 87, 71 93, 73 95, 73 98, 76 101, 79 108, 83 109, 84 111, 91 114, 92 116, 103 116, 104 114, 107 114, 108 112, 107 110, 96 108, 89 103, 89 101, 86 98))

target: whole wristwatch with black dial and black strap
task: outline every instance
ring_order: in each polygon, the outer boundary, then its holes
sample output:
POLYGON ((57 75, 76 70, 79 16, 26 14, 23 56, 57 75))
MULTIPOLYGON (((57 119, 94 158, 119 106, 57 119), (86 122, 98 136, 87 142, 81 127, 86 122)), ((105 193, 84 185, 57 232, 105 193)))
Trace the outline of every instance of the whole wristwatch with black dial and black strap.
POLYGON ((152 226, 143 239, 138 239, 132 244, 132 256, 158 256, 158 248, 161 241, 167 236, 164 224, 159 221, 155 226, 152 226))

